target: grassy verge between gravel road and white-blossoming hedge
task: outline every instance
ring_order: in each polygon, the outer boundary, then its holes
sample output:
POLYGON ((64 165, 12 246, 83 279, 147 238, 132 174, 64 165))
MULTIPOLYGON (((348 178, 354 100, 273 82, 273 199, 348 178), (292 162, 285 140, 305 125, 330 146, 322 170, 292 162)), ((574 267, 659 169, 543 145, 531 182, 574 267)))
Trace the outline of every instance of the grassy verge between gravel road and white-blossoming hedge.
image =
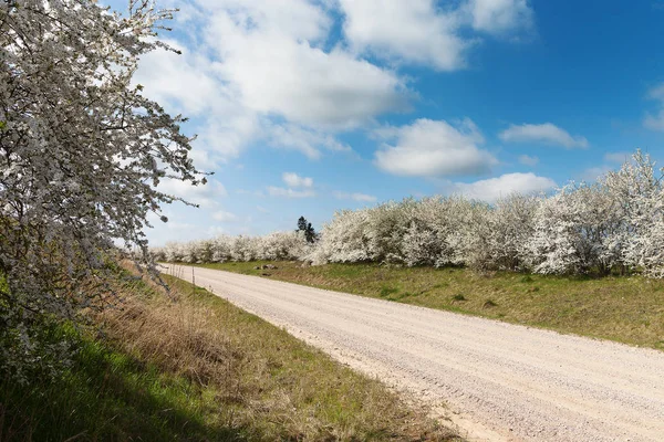
POLYGON ((276 262, 203 264, 314 287, 664 349, 664 281, 562 277, 467 269, 276 262))

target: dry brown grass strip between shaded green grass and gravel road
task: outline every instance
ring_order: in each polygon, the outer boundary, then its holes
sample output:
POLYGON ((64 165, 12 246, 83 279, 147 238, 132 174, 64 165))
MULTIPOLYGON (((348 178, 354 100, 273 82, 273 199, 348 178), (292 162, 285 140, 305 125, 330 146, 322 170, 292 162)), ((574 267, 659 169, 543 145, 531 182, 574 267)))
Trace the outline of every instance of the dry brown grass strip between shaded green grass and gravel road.
POLYGON ((129 284, 122 308, 101 318, 123 351, 212 396, 210 425, 247 440, 457 440, 377 380, 201 288, 168 282, 168 296, 129 284))

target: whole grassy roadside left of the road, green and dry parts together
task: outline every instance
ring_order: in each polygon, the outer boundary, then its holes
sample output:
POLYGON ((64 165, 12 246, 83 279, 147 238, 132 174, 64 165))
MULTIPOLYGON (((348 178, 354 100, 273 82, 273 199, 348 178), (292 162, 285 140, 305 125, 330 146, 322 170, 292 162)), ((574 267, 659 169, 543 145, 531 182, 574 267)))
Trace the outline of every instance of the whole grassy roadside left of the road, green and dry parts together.
POLYGON ((126 280, 55 380, 0 381, 1 441, 458 440, 284 330, 178 280, 126 280))

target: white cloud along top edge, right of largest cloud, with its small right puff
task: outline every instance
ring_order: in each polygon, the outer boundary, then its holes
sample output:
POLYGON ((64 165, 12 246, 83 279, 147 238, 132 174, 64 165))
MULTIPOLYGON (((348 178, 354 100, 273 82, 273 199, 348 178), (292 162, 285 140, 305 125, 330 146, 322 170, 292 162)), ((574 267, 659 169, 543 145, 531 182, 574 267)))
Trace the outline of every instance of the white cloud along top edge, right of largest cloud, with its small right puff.
POLYGON ((466 65, 466 52, 478 42, 469 30, 505 34, 532 27, 526 0, 340 0, 343 30, 360 52, 454 71, 466 65))

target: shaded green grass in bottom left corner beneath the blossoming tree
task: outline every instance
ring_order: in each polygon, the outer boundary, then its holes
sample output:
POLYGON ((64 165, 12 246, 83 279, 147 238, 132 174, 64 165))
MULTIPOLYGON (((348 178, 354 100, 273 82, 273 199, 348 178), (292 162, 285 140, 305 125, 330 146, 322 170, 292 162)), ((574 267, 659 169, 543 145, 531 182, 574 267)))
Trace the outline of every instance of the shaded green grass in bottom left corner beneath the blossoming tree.
POLYGON ((187 379, 69 332, 80 352, 54 380, 0 385, 3 441, 237 440, 218 404, 187 379))

